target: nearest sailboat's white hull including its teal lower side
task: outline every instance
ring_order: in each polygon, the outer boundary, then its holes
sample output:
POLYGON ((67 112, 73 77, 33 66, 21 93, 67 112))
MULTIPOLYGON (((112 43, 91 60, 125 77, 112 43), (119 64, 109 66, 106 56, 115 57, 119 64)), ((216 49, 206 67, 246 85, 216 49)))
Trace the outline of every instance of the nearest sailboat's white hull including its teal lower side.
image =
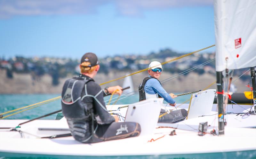
MULTIPOLYGON (((192 119, 190 119, 192 120, 192 119)), ((1 127, 17 126, 25 120, 0 120, 1 127)), ((189 120, 187 120, 189 121, 189 120)), ((159 126, 159 125, 158 125, 159 126)), ((187 131, 158 127, 151 135, 83 144, 73 137, 37 139, 67 133, 68 125, 62 120, 35 120, 22 125, 17 131, 0 131, 1 157, 49 158, 255 158, 256 129, 225 127, 225 135, 206 133, 198 136, 197 129, 187 131), (40 128, 40 129, 38 129, 40 128), (42 128, 48 128, 47 130, 42 128), (50 129, 55 128, 55 129, 50 129), (169 135, 175 130, 177 135, 169 135), (155 140, 155 141, 154 141, 155 140)), ((209 128, 207 132, 210 132, 209 128)))

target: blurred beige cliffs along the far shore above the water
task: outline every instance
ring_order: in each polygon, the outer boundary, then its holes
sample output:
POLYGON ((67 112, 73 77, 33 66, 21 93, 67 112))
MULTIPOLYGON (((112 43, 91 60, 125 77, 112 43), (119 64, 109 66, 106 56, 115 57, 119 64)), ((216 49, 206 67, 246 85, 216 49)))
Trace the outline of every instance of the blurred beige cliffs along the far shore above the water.
MULTIPOLYGON (((128 72, 125 71, 113 71, 108 75, 104 73, 98 73, 94 80, 96 83, 104 83, 116 79, 118 77, 125 76, 128 72)), ((132 73, 132 72, 130 72, 132 73)), ((128 73, 128 74, 130 74, 128 73)), ((169 72, 164 72, 159 78, 163 81, 167 78, 174 76, 169 72)), ((147 72, 142 72, 140 74, 135 74, 132 76, 134 90, 137 90, 142 80, 148 76, 147 72)), ((32 79, 31 74, 17 74, 13 73, 13 78, 9 79, 6 77, 6 70, 0 69, 0 94, 61 94, 62 86, 66 79, 72 78, 73 76, 68 76, 66 78, 59 78, 59 84, 52 86, 52 77, 50 75, 44 75, 36 80, 32 79)), ((237 77, 234 77, 235 80, 237 77)), ((251 79, 248 76, 248 79, 251 79)), ((187 76, 180 76, 166 83, 162 83, 164 89, 171 92, 189 92, 195 90, 203 90, 209 84, 216 81, 216 77, 212 74, 205 73, 203 75, 198 75, 197 73, 189 73, 187 76)), ((122 86, 124 79, 120 79, 108 84, 104 84, 101 88, 107 86, 120 85, 122 86)), ((248 91, 248 87, 245 87, 248 83, 238 79, 235 81, 235 86, 237 87, 236 92, 248 91)), ((208 89, 216 89, 216 84, 213 84, 208 89)), ((250 90, 249 90, 250 91, 250 90)))

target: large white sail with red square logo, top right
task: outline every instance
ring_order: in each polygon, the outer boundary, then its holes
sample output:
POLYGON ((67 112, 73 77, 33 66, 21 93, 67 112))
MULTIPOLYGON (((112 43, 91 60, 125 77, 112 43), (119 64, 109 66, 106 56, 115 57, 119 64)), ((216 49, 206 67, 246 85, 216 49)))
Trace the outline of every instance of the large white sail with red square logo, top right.
POLYGON ((256 66, 256 1, 215 0, 214 21, 216 71, 256 66))

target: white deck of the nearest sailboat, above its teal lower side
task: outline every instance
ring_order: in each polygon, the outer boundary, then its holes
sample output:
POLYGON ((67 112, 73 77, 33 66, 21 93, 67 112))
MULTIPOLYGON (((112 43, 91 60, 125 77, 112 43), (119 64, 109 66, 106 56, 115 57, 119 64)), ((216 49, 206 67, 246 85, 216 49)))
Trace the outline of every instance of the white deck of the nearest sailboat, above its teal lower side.
MULTIPOLYGON (((4 127, 10 123, 17 125, 17 123, 23 122, 23 120, 1 120, 0 122, 1 126, 4 127)), ((26 126, 24 124, 20 130, 36 134, 40 137, 48 136, 50 133, 66 133, 64 131, 39 131, 36 130, 36 127, 34 127, 34 129, 32 128, 32 125, 42 125, 42 123, 44 123, 44 126, 48 125, 48 127, 49 125, 51 125, 51 127, 58 125, 58 128, 67 128, 67 125, 61 121, 37 120, 33 123, 28 123, 26 126)), ((150 136, 139 136, 94 144, 82 144, 74 140, 73 137, 36 139, 33 136, 25 135, 25 138, 20 138, 19 132, 2 130, 0 131, 0 152, 47 155, 116 156, 201 154, 256 150, 256 142, 253 142, 256 141, 256 129, 225 127, 225 135, 223 136, 213 136, 211 134, 198 136, 197 132, 179 129, 176 129, 177 135, 170 136, 169 134, 172 130, 174 129, 158 128, 155 130, 155 133, 150 136), (157 139, 163 135, 165 136, 161 139, 148 142, 148 140, 157 139), (250 140, 250 142, 248 142, 248 140, 250 140)))

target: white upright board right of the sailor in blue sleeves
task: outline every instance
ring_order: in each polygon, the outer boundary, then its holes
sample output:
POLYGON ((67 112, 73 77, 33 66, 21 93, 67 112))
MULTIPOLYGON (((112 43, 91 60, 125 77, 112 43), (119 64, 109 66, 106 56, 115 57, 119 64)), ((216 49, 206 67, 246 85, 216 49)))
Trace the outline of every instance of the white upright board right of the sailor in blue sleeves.
POLYGON ((197 118, 201 115, 209 115, 216 90, 205 90, 192 94, 188 107, 187 119, 197 118))

